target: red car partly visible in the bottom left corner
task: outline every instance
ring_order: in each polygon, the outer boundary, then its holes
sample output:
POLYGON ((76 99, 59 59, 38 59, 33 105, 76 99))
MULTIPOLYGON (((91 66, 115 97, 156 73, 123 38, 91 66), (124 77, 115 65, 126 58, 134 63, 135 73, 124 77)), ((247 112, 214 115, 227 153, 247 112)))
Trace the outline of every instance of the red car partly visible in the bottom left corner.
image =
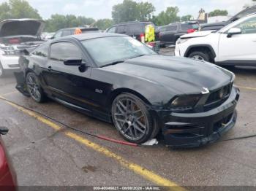
POLYGON ((0 187, 2 191, 15 191, 17 187, 16 173, 8 157, 4 141, 1 139, 1 136, 7 132, 7 128, 0 127, 0 187))

